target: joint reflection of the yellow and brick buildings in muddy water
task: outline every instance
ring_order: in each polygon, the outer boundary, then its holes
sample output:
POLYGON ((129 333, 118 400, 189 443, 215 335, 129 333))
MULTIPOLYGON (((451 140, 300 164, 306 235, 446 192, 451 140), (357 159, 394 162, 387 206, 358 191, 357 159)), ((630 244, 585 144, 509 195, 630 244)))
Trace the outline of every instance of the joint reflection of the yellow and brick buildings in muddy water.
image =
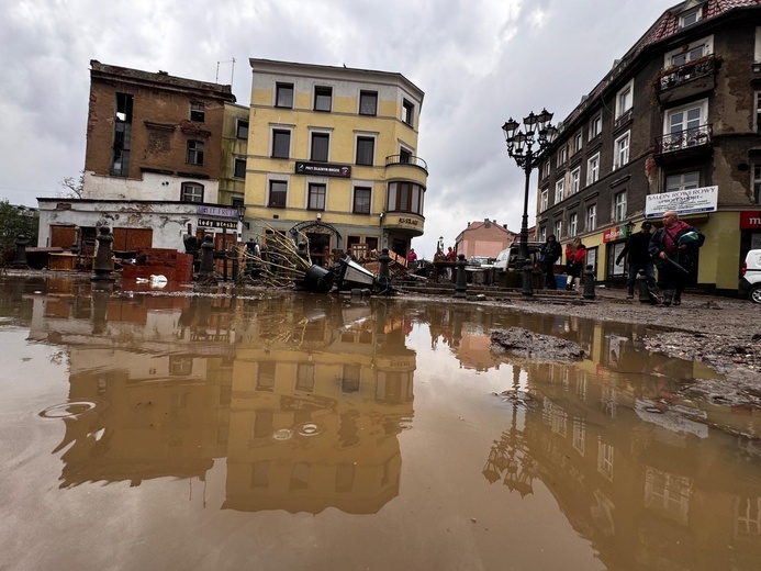
POLYGON ((61 486, 205 479, 224 507, 378 511, 399 492, 413 414, 403 312, 329 298, 115 296, 32 301, 30 337, 67 349, 61 486), (91 406, 91 407, 90 407, 91 406))

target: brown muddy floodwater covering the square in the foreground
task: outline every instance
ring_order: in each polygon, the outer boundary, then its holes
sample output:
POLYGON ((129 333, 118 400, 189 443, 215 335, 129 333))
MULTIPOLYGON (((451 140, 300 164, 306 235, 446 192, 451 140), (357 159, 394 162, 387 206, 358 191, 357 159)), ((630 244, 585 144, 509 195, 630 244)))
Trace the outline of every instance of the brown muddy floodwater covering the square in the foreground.
POLYGON ((758 416, 679 399, 719 376, 648 333, 0 280, 0 567, 757 570, 758 416), (492 352, 510 326, 589 358, 492 352))

